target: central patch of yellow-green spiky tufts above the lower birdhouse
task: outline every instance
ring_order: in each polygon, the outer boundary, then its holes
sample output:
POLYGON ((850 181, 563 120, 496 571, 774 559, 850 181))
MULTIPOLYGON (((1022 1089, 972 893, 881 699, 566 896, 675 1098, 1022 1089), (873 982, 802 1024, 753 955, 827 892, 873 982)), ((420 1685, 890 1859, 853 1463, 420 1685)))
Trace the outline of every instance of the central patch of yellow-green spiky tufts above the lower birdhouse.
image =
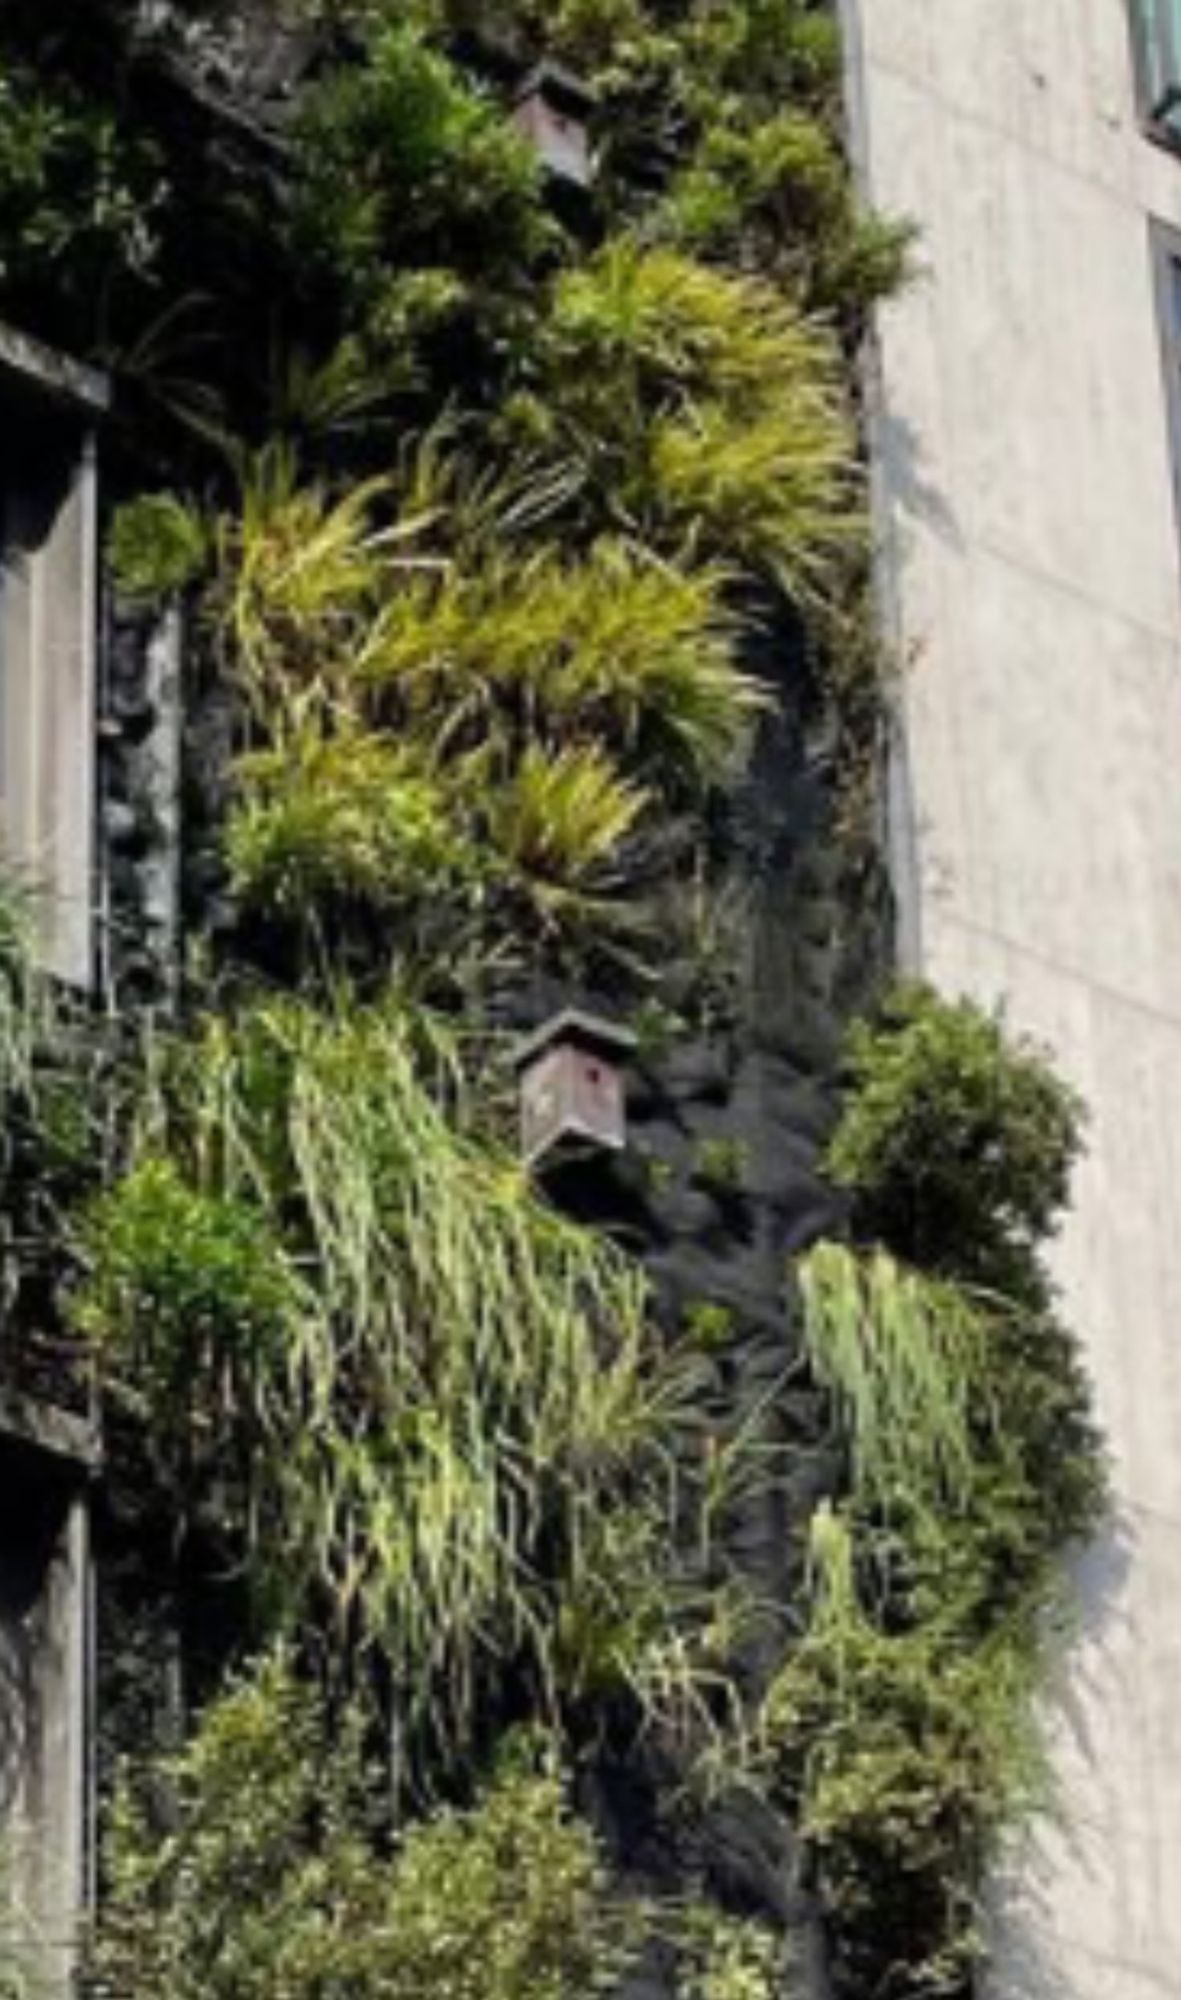
POLYGON ((691 806, 765 706, 725 572, 615 540, 580 558, 480 546, 522 494, 464 494, 432 440, 410 496, 398 510, 372 482, 336 502, 276 450, 222 526, 222 630, 268 736, 234 772, 240 894, 308 930, 340 904, 422 902, 484 942, 522 920, 629 928, 625 862, 657 788, 691 806), (462 556, 432 552, 448 516, 424 500, 448 490, 462 556))

